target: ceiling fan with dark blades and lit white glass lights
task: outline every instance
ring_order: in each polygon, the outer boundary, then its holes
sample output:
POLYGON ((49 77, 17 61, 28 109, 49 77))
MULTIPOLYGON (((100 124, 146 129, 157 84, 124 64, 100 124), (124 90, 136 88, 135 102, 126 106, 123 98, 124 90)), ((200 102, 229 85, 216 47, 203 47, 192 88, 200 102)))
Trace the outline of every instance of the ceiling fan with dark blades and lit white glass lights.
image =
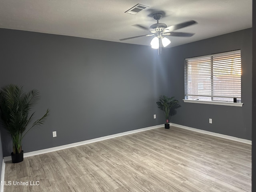
POLYGON ((149 30, 152 34, 148 35, 140 35, 135 37, 128 37, 120 39, 120 41, 128 40, 132 38, 137 37, 143 37, 143 36, 154 36, 154 38, 151 41, 151 47, 154 49, 158 49, 159 45, 161 47, 161 44, 166 47, 168 44, 170 44, 170 40, 164 36, 179 36, 179 37, 191 37, 194 35, 194 33, 184 33, 184 32, 173 32, 174 30, 184 28, 193 24, 196 24, 197 22, 194 20, 189 20, 180 24, 171 25, 168 26, 164 23, 159 23, 159 20, 162 18, 162 13, 155 13, 153 14, 153 18, 157 21, 155 24, 152 24, 150 28, 146 28, 145 26, 136 24, 135 26, 138 26, 142 29, 149 30))

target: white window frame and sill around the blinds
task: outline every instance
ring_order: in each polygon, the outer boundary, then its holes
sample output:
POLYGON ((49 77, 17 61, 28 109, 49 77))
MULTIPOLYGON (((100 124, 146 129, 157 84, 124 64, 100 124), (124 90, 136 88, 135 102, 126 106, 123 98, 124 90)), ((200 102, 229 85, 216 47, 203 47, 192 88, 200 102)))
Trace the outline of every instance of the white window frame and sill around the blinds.
MULTIPOLYGON (((234 51, 228 51, 228 52, 222 52, 222 53, 218 53, 218 54, 210 54, 210 55, 205 55, 205 56, 198 56, 198 57, 191 57, 191 58, 185 58, 185 63, 184 63, 184 102, 188 102, 188 103, 199 103, 199 104, 214 104, 214 105, 226 105, 226 106, 242 106, 244 103, 242 102, 230 102, 230 101, 216 101, 216 100, 200 100, 200 99, 188 99, 188 95, 186 93, 186 89, 188 88, 188 82, 191 81, 190 76, 188 75, 188 67, 191 67, 191 65, 187 65, 187 60, 190 59, 200 59, 200 58, 207 58, 210 57, 211 62, 210 62, 210 68, 214 67, 214 60, 212 60, 212 58, 214 57, 218 57, 218 56, 225 56, 226 54, 232 54, 232 53, 236 53, 240 51, 241 54, 241 50, 234 50, 234 51), (187 79, 188 78, 188 79, 187 79)), ((242 54, 240 55, 240 59, 242 60, 242 54)), ((242 61, 240 63, 240 67, 242 70, 242 61)), ((211 71, 211 90, 213 89, 213 84, 214 84, 214 80, 213 80, 213 73, 211 71)), ((240 76, 240 80, 242 81, 242 71, 241 71, 241 76, 240 76)), ((199 89, 199 88, 198 88, 199 89)), ((242 82, 240 82, 240 91, 241 91, 241 97, 237 97, 240 98, 242 100, 242 82)), ((225 98, 225 96, 223 96, 223 98, 225 98)), ((213 97, 212 97, 213 99, 213 97)))

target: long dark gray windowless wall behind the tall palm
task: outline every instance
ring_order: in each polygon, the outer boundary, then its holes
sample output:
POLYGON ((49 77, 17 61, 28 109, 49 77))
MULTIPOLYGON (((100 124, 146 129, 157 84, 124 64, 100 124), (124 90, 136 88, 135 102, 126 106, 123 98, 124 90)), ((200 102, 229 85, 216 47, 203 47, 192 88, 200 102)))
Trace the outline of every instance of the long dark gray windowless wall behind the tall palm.
MULTIPOLYGON (((168 94, 168 54, 149 46, 19 30, 0 29, 0 36, 0 87, 38 89, 37 118, 50 108, 46 123, 24 137, 24 152, 164 123, 156 101, 168 94)), ((1 131, 3 155, 10 156, 10 136, 1 131)))

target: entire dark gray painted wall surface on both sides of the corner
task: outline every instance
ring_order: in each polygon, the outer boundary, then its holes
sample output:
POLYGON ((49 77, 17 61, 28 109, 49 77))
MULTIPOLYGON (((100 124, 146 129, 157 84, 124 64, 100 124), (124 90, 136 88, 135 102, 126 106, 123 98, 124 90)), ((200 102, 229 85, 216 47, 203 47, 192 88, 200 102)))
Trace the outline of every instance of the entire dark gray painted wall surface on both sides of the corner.
MULTIPOLYGON (((156 106, 162 94, 182 105, 171 122, 251 139, 251 29, 163 49, 161 55, 149 46, 69 36, 7 29, 0 35, 0 87, 37 88, 42 99, 36 117, 51 110, 44 126, 25 136, 24 152, 163 124, 156 106), (242 51, 244 106, 184 103, 184 58, 236 49, 242 51)), ((1 134, 3 155, 9 156, 10 136, 1 134)))

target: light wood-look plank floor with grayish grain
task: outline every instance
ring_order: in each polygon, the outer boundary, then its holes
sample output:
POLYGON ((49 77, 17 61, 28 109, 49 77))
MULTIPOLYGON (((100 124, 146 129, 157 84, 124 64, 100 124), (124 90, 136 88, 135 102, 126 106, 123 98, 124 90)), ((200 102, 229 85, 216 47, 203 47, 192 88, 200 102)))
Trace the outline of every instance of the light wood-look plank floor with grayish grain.
POLYGON ((6 163, 5 181, 29 184, 4 192, 250 192, 251 145, 157 128, 6 163))

